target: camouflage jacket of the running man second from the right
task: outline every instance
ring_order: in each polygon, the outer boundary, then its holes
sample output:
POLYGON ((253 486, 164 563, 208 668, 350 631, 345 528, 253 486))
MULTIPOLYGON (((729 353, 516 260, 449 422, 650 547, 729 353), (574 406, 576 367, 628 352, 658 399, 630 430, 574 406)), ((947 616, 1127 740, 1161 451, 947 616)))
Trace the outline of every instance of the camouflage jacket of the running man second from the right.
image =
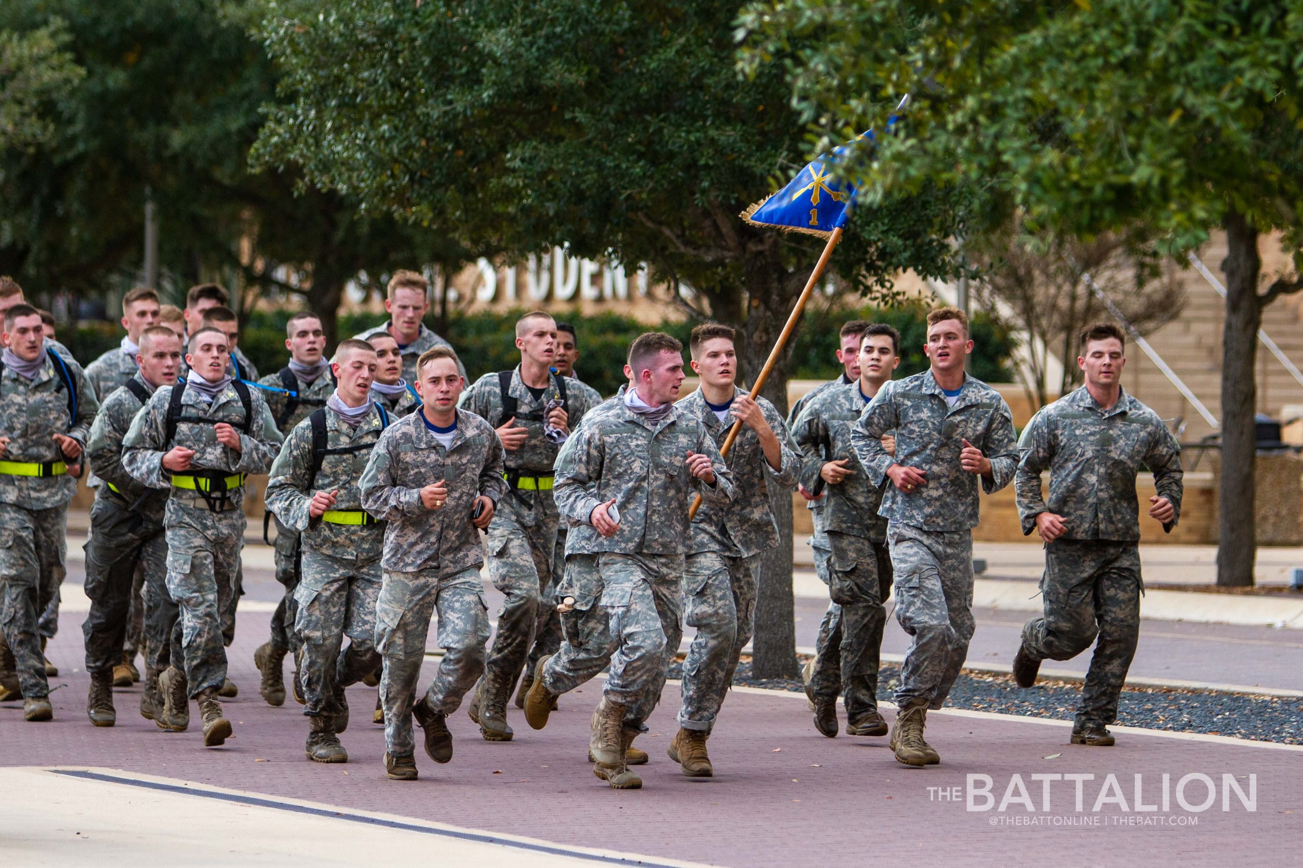
POLYGON ((990 474, 981 478, 986 494, 1014 480, 1018 450, 1014 416, 994 388, 964 378, 954 407, 930 370, 891 381, 864 409, 851 435, 869 481, 881 485, 893 464, 919 468, 928 484, 909 493, 887 486, 878 515, 924 530, 971 530, 977 525, 977 480, 959 467, 962 441, 967 439, 990 459, 990 474), (895 457, 882 448, 881 438, 895 430, 895 457))

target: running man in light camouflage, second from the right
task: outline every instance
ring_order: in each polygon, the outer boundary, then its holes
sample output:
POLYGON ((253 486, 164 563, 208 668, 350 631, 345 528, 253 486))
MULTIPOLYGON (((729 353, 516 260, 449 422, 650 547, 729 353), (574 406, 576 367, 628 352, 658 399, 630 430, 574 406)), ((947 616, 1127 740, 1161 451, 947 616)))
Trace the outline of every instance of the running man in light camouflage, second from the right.
POLYGON ((946 701, 973 635, 977 478, 993 494, 1018 467, 1009 404, 964 374, 972 352, 968 317, 955 308, 929 313, 926 352, 932 368, 886 383, 852 434, 869 482, 893 482, 878 515, 887 519, 896 620, 913 637, 891 731, 896 760, 907 765, 939 762, 923 738, 926 712, 946 701), (894 460, 882 444, 891 430, 894 460))

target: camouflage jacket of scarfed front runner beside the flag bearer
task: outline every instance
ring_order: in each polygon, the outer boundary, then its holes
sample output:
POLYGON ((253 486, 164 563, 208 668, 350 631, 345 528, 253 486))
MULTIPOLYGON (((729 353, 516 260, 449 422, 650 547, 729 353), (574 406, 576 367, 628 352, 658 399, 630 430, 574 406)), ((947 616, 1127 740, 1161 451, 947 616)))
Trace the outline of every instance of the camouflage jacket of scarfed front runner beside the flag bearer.
POLYGON ((566 553, 688 554, 692 495, 727 508, 732 502, 732 474, 706 426, 678 405, 659 425, 624 405, 628 386, 599 404, 571 431, 556 456, 552 497, 572 529, 566 553), (710 456, 714 485, 688 472, 688 452, 710 456), (593 510, 615 499, 619 530, 603 537, 590 525, 593 510))

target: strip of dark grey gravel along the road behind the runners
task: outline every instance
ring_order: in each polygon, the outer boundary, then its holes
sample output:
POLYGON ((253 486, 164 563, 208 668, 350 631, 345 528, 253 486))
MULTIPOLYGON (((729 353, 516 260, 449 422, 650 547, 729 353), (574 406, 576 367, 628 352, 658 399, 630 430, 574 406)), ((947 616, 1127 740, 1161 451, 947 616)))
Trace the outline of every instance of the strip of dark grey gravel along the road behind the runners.
MULTIPOLYGON (((676 662, 670 669, 670 678, 680 678, 681 671, 681 665, 676 662)), ((900 667, 885 663, 880 671, 878 699, 890 700, 899 678, 900 667)), ((804 689, 800 679, 752 679, 751 662, 745 659, 737 666, 734 684, 795 692, 804 689)), ((1040 680, 1031 689, 1023 689, 1011 675, 964 671, 946 704, 975 712, 1070 721, 1080 695, 1081 686, 1075 682, 1040 680)), ((1160 687, 1128 688, 1122 691, 1118 725, 1303 744, 1303 700, 1160 687)))

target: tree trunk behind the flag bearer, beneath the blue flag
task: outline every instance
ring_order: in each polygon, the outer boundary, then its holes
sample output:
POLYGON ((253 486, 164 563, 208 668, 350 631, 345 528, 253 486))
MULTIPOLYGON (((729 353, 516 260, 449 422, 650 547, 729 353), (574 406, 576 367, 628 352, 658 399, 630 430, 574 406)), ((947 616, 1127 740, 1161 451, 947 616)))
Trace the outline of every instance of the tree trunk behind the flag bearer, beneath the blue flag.
MULTIPOLYGON (((777 258, 777 244, 771 252, 774 255, 764 257, 764 262, 757 263, 758 267, 749 270, 747 280, 749 309, 741 331, 745 341, 740 357, 748 383, 754 382, 765 366, 805 283, 804 275, 788 275, 782 268, 777 258)), ((782 358, 774 365, 761 390, 761 395, 778 408, 779 416, 787 416, 787 361, 791 358, 791 348, 788 339, 782 358)), ((770 494, 779 545, 760 558, 752 676, 799 678, 796 610, 792 600, 792 494, 787 490, 771 490, 770 494)))

